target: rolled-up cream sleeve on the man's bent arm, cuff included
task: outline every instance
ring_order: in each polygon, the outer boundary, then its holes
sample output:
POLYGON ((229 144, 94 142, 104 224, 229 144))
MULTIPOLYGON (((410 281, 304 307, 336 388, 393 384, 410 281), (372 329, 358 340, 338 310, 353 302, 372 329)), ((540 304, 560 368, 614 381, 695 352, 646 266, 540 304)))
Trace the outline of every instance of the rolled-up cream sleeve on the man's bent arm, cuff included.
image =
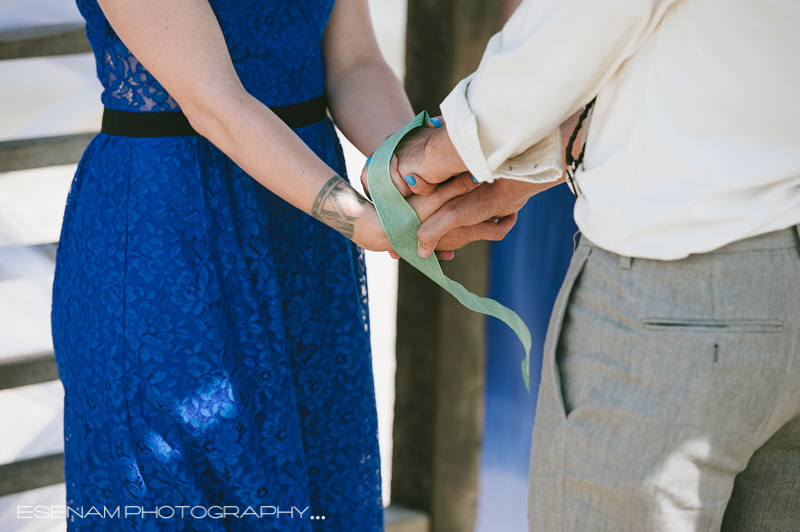
POLYGON ((441 104, 470 172, 489 182, 558 179, 559 124, 597 95, 677 1, 525 0, 478 70, 441 104))

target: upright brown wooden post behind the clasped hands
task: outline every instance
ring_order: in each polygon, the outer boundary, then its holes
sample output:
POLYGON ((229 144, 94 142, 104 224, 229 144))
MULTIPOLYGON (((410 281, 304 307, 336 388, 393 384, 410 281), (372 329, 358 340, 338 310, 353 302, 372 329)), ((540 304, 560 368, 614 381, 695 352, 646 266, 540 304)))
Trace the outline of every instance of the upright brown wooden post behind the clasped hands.
MULTIPOLYGON (((497 31, 500 0, 408 0, 406 91, 415 111, 439 103, 474 71, 497 31)), ((486 293, 488 243, 443 262, 486 293)), ((392 502, 427 512, 432 532, 475 524, 483 418, 484 318, 400 263, 392 502)))

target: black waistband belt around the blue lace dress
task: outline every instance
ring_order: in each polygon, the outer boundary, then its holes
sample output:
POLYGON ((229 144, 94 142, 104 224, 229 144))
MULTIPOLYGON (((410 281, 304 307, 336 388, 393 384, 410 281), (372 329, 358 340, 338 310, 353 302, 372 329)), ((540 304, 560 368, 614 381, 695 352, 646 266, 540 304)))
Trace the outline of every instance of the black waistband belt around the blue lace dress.
MULTIPOLYGON (((292 129, 316 124, 325 118, 325 95, 300 103, 270 107, 292 129)), ((122 137, 179 137, 197 135, 183 111, 137 113, 103 110, 100 131, 122 137)))

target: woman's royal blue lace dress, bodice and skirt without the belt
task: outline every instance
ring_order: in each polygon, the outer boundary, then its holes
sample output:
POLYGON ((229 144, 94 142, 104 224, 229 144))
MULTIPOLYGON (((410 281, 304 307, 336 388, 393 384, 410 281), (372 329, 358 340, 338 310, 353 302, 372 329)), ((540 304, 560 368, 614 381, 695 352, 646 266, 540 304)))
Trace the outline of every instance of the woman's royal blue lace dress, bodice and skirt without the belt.
MULTIPOLYGON (((333 0, 210 3, 256 98, 324 92, 333 0)), ((177 109, 96 0, 78 5, 103 104, 177 109)), ((344 175, 328 119, 295 133, 344 175)), ((382 530, 362 252, 204 138, 95 137, 52 325, 70 531, 382 530)))

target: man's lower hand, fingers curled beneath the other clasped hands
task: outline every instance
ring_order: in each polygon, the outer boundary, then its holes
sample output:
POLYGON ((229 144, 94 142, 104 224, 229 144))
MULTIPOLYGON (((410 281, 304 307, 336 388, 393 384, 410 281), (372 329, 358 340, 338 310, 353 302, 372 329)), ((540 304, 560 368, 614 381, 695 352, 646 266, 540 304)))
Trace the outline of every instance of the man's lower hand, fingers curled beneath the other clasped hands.
POLYGON ((473 240, 502 240, 531 196, 563 181, 563 177, 552 183, 498 179, 454 197, 422 221, 417 231, 420 257, 434 249, 458 249, 473 240))

